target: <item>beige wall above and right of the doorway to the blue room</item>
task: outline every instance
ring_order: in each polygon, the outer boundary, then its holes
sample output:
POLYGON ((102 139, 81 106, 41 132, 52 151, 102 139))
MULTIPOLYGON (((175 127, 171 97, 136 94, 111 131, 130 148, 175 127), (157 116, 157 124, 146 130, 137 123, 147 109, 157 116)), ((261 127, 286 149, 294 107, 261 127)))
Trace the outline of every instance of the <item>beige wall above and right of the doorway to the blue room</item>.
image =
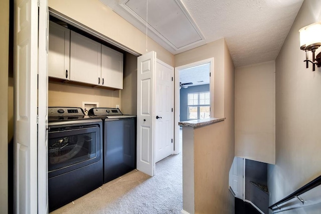
POLYGON ((214 117, 224 117, 224 45, 220 39, 175 55, 175 67, 214 57, 214 117))

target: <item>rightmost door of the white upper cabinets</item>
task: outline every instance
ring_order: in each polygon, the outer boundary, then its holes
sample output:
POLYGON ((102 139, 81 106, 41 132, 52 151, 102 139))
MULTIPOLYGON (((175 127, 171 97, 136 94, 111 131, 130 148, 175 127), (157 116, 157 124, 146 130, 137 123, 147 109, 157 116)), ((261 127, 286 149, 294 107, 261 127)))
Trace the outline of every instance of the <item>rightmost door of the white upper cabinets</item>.
POLYGON ((101 78, 102 86, 122 89, 123 54, 101 46, 101 78))

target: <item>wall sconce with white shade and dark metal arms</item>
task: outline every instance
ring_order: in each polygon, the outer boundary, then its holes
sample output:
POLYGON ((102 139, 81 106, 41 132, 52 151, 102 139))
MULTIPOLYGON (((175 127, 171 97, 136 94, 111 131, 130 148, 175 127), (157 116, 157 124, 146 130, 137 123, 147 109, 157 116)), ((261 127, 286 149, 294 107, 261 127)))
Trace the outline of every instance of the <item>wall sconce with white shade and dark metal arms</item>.
POLYGON ((311 25, 305 26, 299 30, 300 32, 300 46, 301 50, 305 51, 306 68, 308 68, 308 63, 312 63, 313 71, 315 71, 315 65, 321 67, 321 53, 316 55, 315 50, 321 46, 321 22, 313 23, 311 25), (312 61, 309 60, 308 51, 312 52, 312 61))

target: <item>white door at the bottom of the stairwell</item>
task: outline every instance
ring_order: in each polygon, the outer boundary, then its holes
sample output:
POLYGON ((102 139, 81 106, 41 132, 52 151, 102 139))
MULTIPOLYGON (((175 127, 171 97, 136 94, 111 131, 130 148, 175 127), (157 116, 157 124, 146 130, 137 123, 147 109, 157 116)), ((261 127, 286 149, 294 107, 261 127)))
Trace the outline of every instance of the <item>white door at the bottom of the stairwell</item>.
POLYGON ((229 185, 235 193, 235 197, 243 200, 243 161, 241 157, 234 157, 229 173, 229 185))

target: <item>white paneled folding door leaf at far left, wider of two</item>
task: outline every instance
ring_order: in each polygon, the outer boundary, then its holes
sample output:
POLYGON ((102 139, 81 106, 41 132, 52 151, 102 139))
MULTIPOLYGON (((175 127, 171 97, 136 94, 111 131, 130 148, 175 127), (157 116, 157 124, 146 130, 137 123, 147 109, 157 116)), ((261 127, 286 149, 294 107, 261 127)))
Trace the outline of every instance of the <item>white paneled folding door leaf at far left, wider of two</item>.
POLYGON ((38 1, 14 1, 14 212, 37 213, 38 1))

